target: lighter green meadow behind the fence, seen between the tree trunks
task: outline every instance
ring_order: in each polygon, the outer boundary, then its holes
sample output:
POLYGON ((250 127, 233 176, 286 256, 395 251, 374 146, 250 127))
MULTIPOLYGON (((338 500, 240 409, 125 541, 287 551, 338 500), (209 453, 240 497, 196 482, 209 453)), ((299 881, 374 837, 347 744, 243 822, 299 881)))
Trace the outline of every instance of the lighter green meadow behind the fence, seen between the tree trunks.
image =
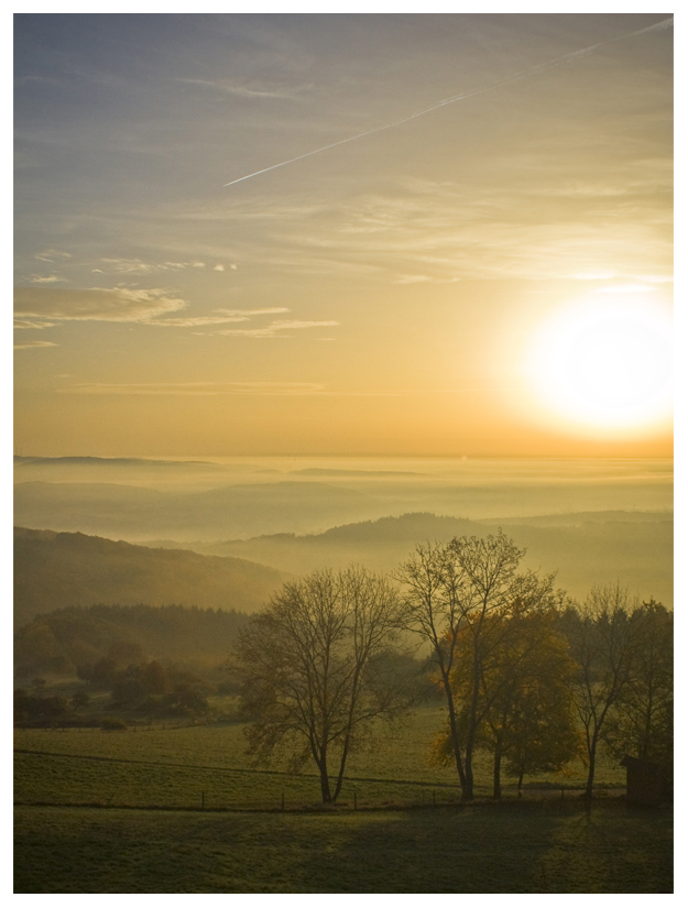
MULTIPOLYGON (((354 791, 361 806, 423 803, 432 801, 433 790, 436 801, 458 797, 456 770, 427 762, 428 743, 441 721, 443 713, 430 707, 415 710, 403 725, 381 729, 373 748, 351 756, 341 800, 351 802, 354 791)), ((252 768, 239 724, 135 732, 22 729, 15 731, 15 747, 31 752, 15 754, 20 802, 192 807, 203 798, 207 807, 271 807, 281 803, 282 795, 287 806, 319 797, 308 766, 301 775, 280 764, 269 772, 252 768)), ((477 795, 490 794, 491 772, 489 758, 479 757, 477 795)), ((509 777, 504 781, 509 795, 509 777)), ((565 773, 533 781, 582 788, 585 768, 576 761, 565 773)), ((598 784, 623 786, 625 770, 601 761, 598 784)))

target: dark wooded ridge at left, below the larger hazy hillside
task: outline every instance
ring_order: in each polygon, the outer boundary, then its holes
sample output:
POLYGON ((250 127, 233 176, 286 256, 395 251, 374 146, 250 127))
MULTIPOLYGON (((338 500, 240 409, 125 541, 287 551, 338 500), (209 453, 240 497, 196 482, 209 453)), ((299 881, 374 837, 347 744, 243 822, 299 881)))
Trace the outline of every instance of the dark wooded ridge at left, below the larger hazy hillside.
POLYGON ((91 605, 40 615, 14 636, 18 677, 73 674, 110 659, 120 668, 156 659, 194 670, 215 669, 249 615, 181 605, 91 605))

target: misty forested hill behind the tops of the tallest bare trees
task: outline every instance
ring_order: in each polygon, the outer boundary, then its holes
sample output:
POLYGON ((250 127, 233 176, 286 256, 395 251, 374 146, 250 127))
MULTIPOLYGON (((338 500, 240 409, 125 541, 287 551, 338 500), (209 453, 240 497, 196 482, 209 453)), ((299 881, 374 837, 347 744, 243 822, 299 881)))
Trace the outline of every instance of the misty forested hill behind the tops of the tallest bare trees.
POLYGON ((653 597, 673 608, 670 513, 552 514, 490 523, 421 513, 349 524, 318 535, 279 534, 189 545, 207 554, 250 558, 294 573, 343 567, 351 561, 392 571, 417 543, 485 536, 495 533, 500 523, 505 534, 526 549, 525 567, 545 573, 557 571, 557 586, 580 601, 593 584, 619 580, 642 599, 653 597))

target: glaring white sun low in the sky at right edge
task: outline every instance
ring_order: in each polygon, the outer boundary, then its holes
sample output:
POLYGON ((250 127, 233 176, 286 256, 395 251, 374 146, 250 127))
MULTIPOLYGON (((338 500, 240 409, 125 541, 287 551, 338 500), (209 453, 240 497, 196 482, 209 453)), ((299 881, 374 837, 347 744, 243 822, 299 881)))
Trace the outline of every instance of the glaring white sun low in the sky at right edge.
POLYGON ((526 371, 542 407, 568 424, 633 430, 671 412, 671 326, 657 304, 615 299, 559 310, 535 331, 526 371))

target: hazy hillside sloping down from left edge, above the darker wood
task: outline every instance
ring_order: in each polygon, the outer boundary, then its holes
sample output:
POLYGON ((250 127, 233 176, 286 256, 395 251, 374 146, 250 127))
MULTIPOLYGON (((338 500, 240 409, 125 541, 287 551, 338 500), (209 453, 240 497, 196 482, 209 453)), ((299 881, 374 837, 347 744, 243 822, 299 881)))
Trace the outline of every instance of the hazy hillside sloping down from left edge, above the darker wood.
POLYGON ((286 578, 237 557, 148 548, 81 533, 14 529, 17 626, 55 609, 94 603, 254 612, 286 578))

